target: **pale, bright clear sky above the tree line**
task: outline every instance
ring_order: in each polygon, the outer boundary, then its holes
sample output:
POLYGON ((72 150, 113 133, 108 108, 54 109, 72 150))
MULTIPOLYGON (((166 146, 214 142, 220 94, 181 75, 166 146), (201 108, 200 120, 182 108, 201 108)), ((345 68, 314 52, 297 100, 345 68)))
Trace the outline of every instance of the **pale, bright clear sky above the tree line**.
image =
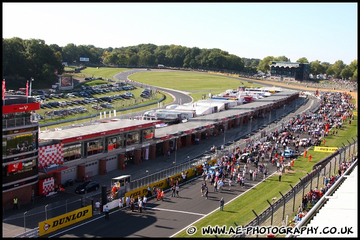
POLYGON ((2 38, 65 46, 218 48, 239 57, 357 59, 357 3, 2 3, 2 38))

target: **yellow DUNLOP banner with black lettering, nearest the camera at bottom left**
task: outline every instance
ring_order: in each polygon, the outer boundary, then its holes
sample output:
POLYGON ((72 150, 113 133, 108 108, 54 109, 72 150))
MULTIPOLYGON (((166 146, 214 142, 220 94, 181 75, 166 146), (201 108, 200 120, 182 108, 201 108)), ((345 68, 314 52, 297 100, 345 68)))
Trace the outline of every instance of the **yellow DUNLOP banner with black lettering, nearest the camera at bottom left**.
POLYGON ((81 207, 77 210, 39 222, 39 236, 50 233, 62 227, 71 225, 92 216, 92 206, 81 207))

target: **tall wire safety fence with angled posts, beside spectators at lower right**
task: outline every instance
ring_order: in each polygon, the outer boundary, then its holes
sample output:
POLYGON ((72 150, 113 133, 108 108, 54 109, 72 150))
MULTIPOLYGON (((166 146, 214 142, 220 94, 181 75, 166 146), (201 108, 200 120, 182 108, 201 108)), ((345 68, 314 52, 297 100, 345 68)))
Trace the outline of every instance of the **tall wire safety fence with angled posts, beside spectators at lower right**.
MULTIPOLYGON (((320 189, 324 187, 324 179, 326 177, 335 176, 337 174, 337 169, 339 163, 342 161, 347 161, 350 158, 350 154, 357 152, 357 139, 354 140, 349 145, 339 148, 338 151, 332 155, 324 158, 317 165, 315 165, 313 170, 310 173, 306 173, 302 179, 299 178, 299 182, 292 186, 290 184, 290 190, 285 194, 281 192, 281 198, 279 199, 269 199, 267 203, 269 206, 262 211, 257 213, 254 210, 253 213, 255 218, 251 220, 248 224, 244 225, 243 228, 248 226, 282 226, 282 220, 286 224, 293 219, 295 213, 298 213, 298 207, 301 206, 301 200, 305 194, 313 190, 315 187, 320 189), (346 153, 347 152, 347 153, 346 153)), ((316 203, 315 203, 316 204, 316 203)), ((311 207, 312 204, 307 205, 311 207)), ((236 219, 234 219, 236 223, 236 219)), ((257 237, 258 234, 252 234, 251 232, 245 235, 235 234, 232 237, 257 237)))

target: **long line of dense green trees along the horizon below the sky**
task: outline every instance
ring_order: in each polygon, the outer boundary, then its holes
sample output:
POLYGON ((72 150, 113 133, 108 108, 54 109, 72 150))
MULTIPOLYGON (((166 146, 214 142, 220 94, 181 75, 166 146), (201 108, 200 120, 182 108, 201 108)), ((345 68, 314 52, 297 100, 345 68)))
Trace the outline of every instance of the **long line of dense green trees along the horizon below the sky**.
MULTIPOLYGON (((89 58, 86 64, 121 67, 167 67, 201 69, 212 67, 242 72, 268 72, 271 61, 290 62, 286 56, 266 56, 263 59, 245 58, 227 51, 212 48, 185 47, 181 45, 139 44, 118 48, 100 48, 94 45, 68 43, 65 46, 47 45, 41 39, 2 38, 2 76, 14 85, 23 85, 33 77, 37 82, 57 82, 58 74, 64 72, 62 62, 80 64, 80 57, 89 58)), ((306 57, 296 60, 309 63, 314 75, 326 73, 334 78, 357 81, 357 59, 349 65, 337 60, 333 64, 315 60, 308 62, 306 57)), ((35 82, 34 82, 35 83, 35 82)))

